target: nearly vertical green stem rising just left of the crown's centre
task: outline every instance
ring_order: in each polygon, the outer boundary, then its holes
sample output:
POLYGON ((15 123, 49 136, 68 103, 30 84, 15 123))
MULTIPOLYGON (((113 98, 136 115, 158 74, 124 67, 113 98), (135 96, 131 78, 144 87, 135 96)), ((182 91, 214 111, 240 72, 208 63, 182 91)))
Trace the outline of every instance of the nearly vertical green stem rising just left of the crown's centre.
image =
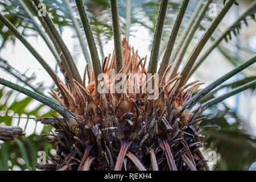
POLYGON ((115 72, 123 68, 123 47, 121 42, 121 31, 118 18, 118 5, 117 0, 110 0, 110 9, 112 15, 112 27, 113 27, 113 36, 114 36, 114 49, 115 49, 115 72))

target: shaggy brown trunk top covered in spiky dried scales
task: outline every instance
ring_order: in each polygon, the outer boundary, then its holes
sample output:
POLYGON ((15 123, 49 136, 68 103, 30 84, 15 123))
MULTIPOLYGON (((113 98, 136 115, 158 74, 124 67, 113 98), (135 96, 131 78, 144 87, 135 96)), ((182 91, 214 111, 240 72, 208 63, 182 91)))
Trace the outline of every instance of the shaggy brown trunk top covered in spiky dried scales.
MULTIPOLYGON (((139 57, 126 39, 122 45, 126 75, 146 73, 146 58, 139 57)), ((103 72, 110 78, 110 69, 115 68, 114 54, 112 60, 110 55, 102 60, 102 65, 103 72)), ((65 85, 61 85, 64 96, 52 90, 53 98, 69 109, 74 119, 67 123, 65 119, 52 118, 50 123, 57 134, 49 139, 58 156, 52 159, 53 164, 38 165, 38 168, 61 171, 209 169, 199 150, 198 122, 194 122, 200 114, 192 114, 182 107, 198 92, 200 84, 192 82, 176 90, 180 77, 170 81, 163 76, 159 97, 148 100, 149 93, 100 94, 94 88, 93 73, 87 71, 87 74, 88 86, 74 81, 76 92, 65 85)), ((142 83, 143 78, 139 80, 140 90, 142 83)), ((108 88, 110 84, 106 82, 108 88)), ((39 120, 49 123, 49 118, 39 120)))

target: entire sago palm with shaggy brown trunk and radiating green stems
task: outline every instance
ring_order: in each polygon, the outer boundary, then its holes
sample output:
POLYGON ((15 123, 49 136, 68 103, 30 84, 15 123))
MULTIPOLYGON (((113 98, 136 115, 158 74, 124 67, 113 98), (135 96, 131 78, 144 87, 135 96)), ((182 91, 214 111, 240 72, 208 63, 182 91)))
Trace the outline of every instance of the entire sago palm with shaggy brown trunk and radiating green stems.
MULTIPOLYGON (((76 26, 77 35, 88 63, 82 77, 79 75, 74 58, 41 2, 39 0, 20 0, 19 2, 24 10, 30 12, 31 17, 38 16, 44 28, 40 31, 40 35, 55 56, 65 77, 64 82, 6 16, 0 14, 1 22, 42 64, 56 85, 56 88, 49 92, 52 96, 49 98, 37 90, 33 92, 0 78, 0 84, 46 104, 62 116, 61 118, 53 115, 52 118, 38 119, 42 123, 55 127, 56 133, 49 134, 49 139, 57 151, 57 157, 52 159, 52 163, 38 165, 39 169, 60 171, 209 170, 199 150, 202 146, 200 141, 204 137, 200 134, 199 123, 204 119, 200 117, 200 114, 208 107, 255 86, 256 81, 254 79, 247 82, 200 106, 197 103, 217 86, 254 64, 256 57, 254 56, 221 76, 204 89, 199 89, 200 82, 188 82, 188 80, 223 39, 226 39, 231 32, 234 34, 239 32, 241 22, 246 22, 247 16, 254 18, 255 2, 220 38, 214 41, 211 47, 202 52, 218 24, 228 13, 230 7, 236 3, 236 0, 224 1, 224 7, 205 30, 181 71, 178 72, 188 45, 212 0, 199 2, 195 15, 183 31, 184 34, 179 36, 180 40, 175 44, 189 0, 181 2, 170 37, 165 40, 166 47, 163 49, 162 59, 159 59, 159 52, 168 0, 160 2, 149 59, 140 57, 138 51, 129 46, 127 39, 121 38, 118 2, 110 0, 112 27, 109 28, 113 30, 114 53, 102 61, 98 56, 94 36, 97 41, 101 38, 93 35, 83 1, 76 0, 76 7, 89 48, 88 53, 84 44, 85 40, 79 32, 79 24, 73 17, 73 24, 76 26), (200 53, 202 53, 201 57, 199 57, 200 53), (158 63, 160 63, 159 68, 158 63), (127 78, 121 82, 122 92, 119 93, 115 90, 112 92, 112 86, 120 83, 117 78, 118 73, 124 74, 127 78), (86 77, 88 80, 85 80, 86 77), (115 79, 111 80, 113 77, 115 79), (147 88, 150 83, 154 89, 147 88), (154 96, 153 99, 151 96, 154 96)), ((64 2, 69 3, 69 0, 64 2)), ((130 1, 127 0, 127 2, 130 1)), ((69 12, 72 13, 72 9, 69 9, 69 12)), ((129 32, 129 27, 126 31, 127 38, 129 38, 127 32, 129 32)), ((101 55, 104 55, 102 50, 101 55)))

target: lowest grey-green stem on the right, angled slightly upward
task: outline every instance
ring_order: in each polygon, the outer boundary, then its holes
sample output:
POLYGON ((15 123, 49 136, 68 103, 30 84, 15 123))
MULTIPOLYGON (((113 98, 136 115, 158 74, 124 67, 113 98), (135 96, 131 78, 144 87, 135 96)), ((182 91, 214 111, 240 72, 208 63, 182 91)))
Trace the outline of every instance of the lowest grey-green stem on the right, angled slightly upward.
POLYGON ((234 96, 235 94, 240 93, 240 92, 242 92, 243 90, 249 89, 249 88, 251 88, 251 87, 253 87, 253 86, 256 86, 256 80, 251 81, 251 82, 249 82, 249 83, 247 83, 247 84, 245 84, 245 85, 242 85, 242 86, 240 86, 240 87, 238 87, 238 88, 236 88, 236 89, 233 89, 231 92, 226 93, 226 94, 223 94, 223 95, 220 96, 220 97, 213 98, 212 100, 209 100, 208 102, 205 102, 205 103, 203 104, 202 108, 210 107, 210 106, 212 106, 212 105, 214 105, 214 104, 217 104, 217 103, 219 103, 219 102, 225 100, 226 98, 229 98, 229 97, 231 97, 231 96, 234 96))

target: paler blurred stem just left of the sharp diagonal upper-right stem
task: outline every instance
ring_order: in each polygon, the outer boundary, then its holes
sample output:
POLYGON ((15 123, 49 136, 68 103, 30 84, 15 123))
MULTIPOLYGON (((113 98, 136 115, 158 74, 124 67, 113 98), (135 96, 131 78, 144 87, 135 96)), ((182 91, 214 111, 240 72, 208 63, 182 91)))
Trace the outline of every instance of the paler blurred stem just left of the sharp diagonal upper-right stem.
POLYGON ((177 70, 179 69, 180 67, 180 63, 181 61, 183 60, 183 57, 188 49, 188 46, 189 44, 191 43, 194 35, 195 35, 195 32, 196 30, 199 28, 200 26, 200 23, 201 23, 201 20, 204 18, 204 15, 205 13, 207 12, 208 10, 208 6, 209 4, 212 2, 212 0, 208 0, 207 3, 205 3, 205 5, 203 6, 203 9, 201 9, 199 15, 197 16, 196 18, 196 22, 193 24, 193 26, 191 27, 191 30, 189 31, 189 34, 187 36, 187 38, 185 38, 184 40, 184 44, 183 46, 181 47, 181 50, 180 50, 180 53, 179 53, 179 56, 178 58, 174 61, 174 65, 172 66, 172 69, 170 71, 170 79, 174 78, 176 73, 177 73, 177 70))

